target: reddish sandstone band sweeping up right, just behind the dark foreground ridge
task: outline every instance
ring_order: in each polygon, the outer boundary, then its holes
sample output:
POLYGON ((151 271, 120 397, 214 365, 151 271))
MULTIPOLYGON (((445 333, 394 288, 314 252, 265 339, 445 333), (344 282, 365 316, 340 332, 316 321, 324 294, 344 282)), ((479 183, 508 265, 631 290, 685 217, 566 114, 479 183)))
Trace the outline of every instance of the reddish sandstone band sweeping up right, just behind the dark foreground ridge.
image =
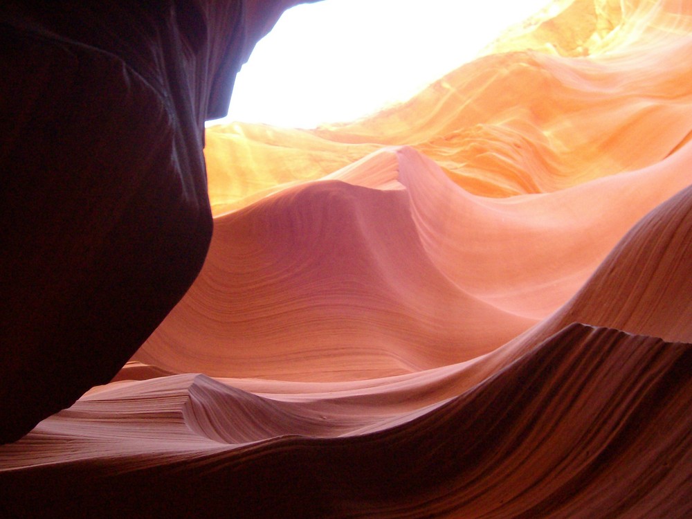
POLYGON ((690 226, 692 186, 655 208, 632 228, 570 302, 506 345, 470 361, 385 379, 340 383, 222 380, 257 394, 319 395, 320 399, 339 405, 374 402, 382 406, 386 401, 397 410, 412 410, 468 390, 575 320, 598 318, 602 326, 622 327, 631 333, 641 333, 646 327, 653 336, 688 342, 692 334, 688 275, 690 226), (620 264, 613 258, 626 260, 620 264), (621 270, 637 275, 630 283, 623 282, 626 276, 621 270), (654 293, 650 293, 648 284, 639 281, 657 276, 676 281, 658 284, 654 293))

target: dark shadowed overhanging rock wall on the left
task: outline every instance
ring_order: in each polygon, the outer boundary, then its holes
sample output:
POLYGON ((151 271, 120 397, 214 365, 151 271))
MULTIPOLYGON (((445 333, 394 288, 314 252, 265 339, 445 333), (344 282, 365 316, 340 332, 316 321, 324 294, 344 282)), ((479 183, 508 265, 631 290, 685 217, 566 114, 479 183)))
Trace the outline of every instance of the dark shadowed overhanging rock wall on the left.
POLYGON ((3 2, 0 442, 109 381, 194 280, 203 122, 289 5, 3 2))

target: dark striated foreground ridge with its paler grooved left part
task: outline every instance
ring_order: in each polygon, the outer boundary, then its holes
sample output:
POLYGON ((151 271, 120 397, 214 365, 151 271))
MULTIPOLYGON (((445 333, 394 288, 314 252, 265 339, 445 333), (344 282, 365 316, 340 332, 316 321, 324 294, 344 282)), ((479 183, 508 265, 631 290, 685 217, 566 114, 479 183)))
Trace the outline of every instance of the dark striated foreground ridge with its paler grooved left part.
POLYGON ((192 374, 118 383, 1 448, 0 480, 8 510, 31 495, 88 511, 109 489, 111 514, 176 511, 196 493, 203 515, 241 517, 684 517, 691 374, 692 345, 575 324, 398 419, 192 374), (91 464, 93 479, 60 491, 91 464), (31 475, 46 478, 35 494, 31 475))

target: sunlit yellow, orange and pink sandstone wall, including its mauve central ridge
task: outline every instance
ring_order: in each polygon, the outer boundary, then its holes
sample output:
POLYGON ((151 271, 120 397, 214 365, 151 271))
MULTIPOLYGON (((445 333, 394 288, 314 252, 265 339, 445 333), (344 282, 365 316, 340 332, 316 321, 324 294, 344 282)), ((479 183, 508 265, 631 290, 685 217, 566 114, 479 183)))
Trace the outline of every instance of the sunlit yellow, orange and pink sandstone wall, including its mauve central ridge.
POLYGON ((493 351, 691 183, 691 24, 556 3, 370 118, 208 128, 206 266, 136 358, 342 380, 493 351))

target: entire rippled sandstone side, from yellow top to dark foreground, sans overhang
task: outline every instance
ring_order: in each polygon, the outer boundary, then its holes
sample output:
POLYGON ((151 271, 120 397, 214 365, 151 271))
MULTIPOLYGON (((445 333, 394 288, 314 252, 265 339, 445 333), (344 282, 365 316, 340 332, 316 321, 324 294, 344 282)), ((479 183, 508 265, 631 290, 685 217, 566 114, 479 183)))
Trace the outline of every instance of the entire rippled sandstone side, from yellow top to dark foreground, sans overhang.
POLYGON ((691 516, 691 34, 559 2, 365 120, 209 128, 199 277, 8 509, 691 516))

